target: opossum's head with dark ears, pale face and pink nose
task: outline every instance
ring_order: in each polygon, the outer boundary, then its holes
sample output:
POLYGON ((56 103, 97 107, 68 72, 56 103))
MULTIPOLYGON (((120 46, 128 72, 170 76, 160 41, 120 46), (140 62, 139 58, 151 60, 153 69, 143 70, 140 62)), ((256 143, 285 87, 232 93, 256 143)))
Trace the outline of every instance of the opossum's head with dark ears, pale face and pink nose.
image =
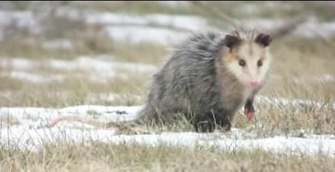
POLYGON ((271 36, 256 31, 233 31, 225 35, 222 60, 240 83, 257 87, 269 71, 271 36))

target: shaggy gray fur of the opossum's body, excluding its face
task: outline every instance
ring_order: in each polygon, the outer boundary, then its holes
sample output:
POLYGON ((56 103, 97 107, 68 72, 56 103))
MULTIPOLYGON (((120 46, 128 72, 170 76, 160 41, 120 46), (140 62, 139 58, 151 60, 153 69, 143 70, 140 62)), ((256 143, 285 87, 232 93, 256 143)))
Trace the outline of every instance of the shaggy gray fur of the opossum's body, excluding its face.
MULTIPOLYGON (((255 32, 239 30, 233 34, 252 39, 255 32)), ((165 124, 176 114, 184 114, 197 131, 212 131, 216 125, 230 129, 234 113, 244 103, 241 93, 233 89, 243 86, 221 62, 223 39, 224 34, 206 31, 182 43, 154 75, 146 106, 137 120, 165 124), (218 77, 218 66, 225 76, 218 77)))

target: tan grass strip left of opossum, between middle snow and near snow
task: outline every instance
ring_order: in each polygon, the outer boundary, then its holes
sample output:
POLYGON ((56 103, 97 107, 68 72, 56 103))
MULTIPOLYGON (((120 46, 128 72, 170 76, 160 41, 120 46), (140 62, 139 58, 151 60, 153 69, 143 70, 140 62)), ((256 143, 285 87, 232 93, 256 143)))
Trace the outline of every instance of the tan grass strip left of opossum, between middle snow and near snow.
MULTIPOLYGON (((147 84, 143 80, 149 80, 147 76, 137 74, 129 78, 114 78, 103 83, 95 83, 87 78, 76 78, 67 73, 66 79, 61 83, 29 83, 20 80, 1 78, 5 85, 1 85, 1 91, 10 92, 10 97, 0 99, 1 106, 42 106, 64 107, 80 104, 101 105, 138 105, 138 99, 134 96, 145 94, 147 84), (130 84, 131 81, 131 84, 130 84), (14 85, 14 86, 13 86, 14 85), (142 91, 143 90, 143 91, 142 91), (114 100, 101 99, 99 94, 114 92, 121 94, 114 100)), ((82 74, 84 75, 84 73, 82 74)))

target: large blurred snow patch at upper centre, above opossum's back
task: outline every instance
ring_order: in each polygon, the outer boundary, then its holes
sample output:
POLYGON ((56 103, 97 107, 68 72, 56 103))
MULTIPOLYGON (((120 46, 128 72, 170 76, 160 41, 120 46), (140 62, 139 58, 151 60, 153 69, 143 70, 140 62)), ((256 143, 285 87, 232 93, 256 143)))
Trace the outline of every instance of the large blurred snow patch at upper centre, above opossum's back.
POLYGON ((117 41, 130 41, 131 43, 151 42, 163 45, 179 43, 191 31, 209 28, 206 20, 191 15, 154 14, 138 16, 118 13, 95 13, 87 17, 87 22, 89 24, 104 24, 107 35, 117 41))

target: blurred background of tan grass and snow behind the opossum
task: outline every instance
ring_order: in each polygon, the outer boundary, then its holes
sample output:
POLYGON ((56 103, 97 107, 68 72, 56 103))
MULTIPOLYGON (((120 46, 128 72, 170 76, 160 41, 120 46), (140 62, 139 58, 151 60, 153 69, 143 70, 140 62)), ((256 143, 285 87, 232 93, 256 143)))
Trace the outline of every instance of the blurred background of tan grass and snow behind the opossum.
POLYGON ((261 92, 332 102, 334 1, 1 1, 0 106, 140 105, 195 31, 274 36, 261 92))

